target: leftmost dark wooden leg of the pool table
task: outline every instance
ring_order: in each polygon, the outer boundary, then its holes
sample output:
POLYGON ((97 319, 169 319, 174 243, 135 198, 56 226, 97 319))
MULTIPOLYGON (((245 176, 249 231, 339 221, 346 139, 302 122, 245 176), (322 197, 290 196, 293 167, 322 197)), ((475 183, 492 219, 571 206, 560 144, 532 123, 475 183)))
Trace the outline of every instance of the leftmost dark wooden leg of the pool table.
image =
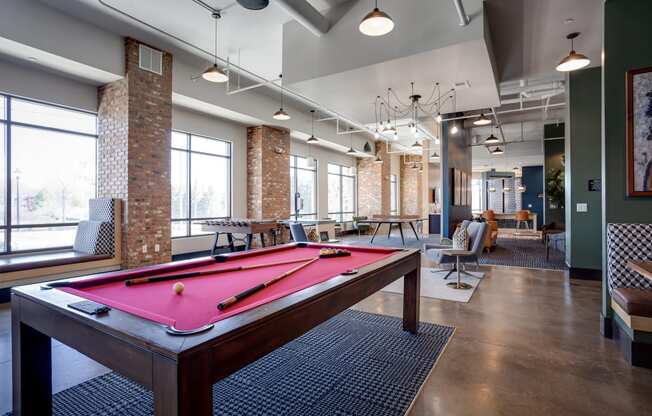
POLYGON ((52 414, 50 337, 20 321, 19 301, 12 305, 13 414, 52 414))

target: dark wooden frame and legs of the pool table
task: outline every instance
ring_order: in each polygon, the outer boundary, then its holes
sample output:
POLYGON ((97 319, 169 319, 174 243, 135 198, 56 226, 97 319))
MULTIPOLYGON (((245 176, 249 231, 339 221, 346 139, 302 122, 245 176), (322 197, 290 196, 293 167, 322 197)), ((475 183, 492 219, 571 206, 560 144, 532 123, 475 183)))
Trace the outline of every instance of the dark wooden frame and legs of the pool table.
MULTIPOLYGON (((301 244, 306 243, 285 246, 301 244)), ((38 284, 14 288, 13 414, 52 414, 50 343, 55 338, 152 390, 157 416, 212 415, 215 382, 402 276, 403 329, 416 333, 420 271, 419 251, 399 250, 360 268, 355 275, 338 275, 218 321, 210 331, 191 336, 169 335, 161 324, 116 309, 100 317, 77 312, 67 305, 82 298, 60 290, 42 290, 38 284)))

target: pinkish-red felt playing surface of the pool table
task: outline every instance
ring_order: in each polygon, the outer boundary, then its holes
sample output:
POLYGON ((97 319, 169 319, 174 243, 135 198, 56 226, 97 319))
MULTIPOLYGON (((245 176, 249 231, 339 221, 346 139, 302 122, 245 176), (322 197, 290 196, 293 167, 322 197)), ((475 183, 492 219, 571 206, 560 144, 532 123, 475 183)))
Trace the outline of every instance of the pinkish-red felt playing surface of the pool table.
POLYGON ((179 330, 191 330, 272 302, 324 282, 347 270, 370 265, 398 251, 398 249, 388 248, 341 247, 351 251, 351 256, 320 258, 224 311, 217 309, 220 301, 274 278, 301 263, 186 278, 179 280, 185 285, 182 294, 176 294, 172 289, 176 280, 135 286, 126 286, 124 283, 126 279, 134 277, 165 276, 191 271, 219 270, 236 265, 314 258, 319 256, 319 249, 322 247, 338 248, 338 246, 316 244, 308 247, 289 245, 262 250, 262 254, 252 250, 228 255, 224 257, 226 260, 223 262, 215 262, 210 257, 172 262, 77 280, 72 286, 61 290, 179 330))

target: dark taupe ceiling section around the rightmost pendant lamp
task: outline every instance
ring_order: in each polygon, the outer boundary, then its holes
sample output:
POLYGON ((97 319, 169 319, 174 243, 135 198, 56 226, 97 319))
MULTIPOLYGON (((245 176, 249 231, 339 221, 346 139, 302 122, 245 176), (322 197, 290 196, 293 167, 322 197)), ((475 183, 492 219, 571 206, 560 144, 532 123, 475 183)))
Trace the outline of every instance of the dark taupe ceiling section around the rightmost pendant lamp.
POLYGON ((575 49, 601 63, 603 0, 487 0, 500 81, 548 77, 568 54, 566 35, 581 32, 575 49), (574 19, 565 23, 566 19, 574 19))

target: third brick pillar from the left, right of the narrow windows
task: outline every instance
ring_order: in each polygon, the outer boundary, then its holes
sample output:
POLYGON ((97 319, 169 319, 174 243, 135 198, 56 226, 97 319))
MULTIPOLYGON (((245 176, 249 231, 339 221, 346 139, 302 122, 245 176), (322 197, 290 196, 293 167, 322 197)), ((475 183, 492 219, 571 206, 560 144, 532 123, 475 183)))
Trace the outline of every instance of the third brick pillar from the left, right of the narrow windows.
POLYGON ((358 215, 389 215, 391 158, 387 143, 376 142, 376 152, 383 163, 358 159, 358 215))

